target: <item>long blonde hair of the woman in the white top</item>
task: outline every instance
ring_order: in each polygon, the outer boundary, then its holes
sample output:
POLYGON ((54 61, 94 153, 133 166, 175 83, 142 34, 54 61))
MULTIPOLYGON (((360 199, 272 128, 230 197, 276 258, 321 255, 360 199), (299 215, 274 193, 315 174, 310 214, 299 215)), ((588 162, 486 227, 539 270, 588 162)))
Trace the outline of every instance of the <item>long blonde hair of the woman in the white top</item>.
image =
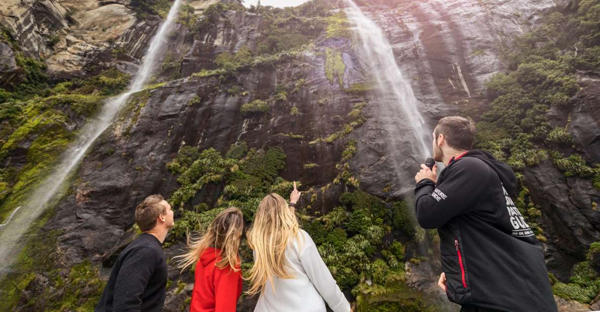
POLYGON ((286 247, 298 234, 298 220, 283 197, 271 193, 260 202, 252 228, 247 233, 248 245, 254 250, 254 265, 246 280, 251 287, 249 295, 262 292, 273 278, 294 278, 286 272, 286 247))

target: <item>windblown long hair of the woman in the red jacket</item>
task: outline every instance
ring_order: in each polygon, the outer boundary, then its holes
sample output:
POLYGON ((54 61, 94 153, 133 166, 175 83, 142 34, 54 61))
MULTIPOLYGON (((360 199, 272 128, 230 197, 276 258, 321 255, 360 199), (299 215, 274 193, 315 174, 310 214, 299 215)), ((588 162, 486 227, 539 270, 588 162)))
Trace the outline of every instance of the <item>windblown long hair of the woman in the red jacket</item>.
POLYGON ((221 256, 217 267, 224 269, 229 266, 233 271, 239 271, 239 242, 244 231, 244 216, 235 207, 221 211, 204 235, 196 233, 188 235, 187 252, 178 258, 178 267, 183 271, 190 265, 196 263, 206 248, 214 247, 221 256))

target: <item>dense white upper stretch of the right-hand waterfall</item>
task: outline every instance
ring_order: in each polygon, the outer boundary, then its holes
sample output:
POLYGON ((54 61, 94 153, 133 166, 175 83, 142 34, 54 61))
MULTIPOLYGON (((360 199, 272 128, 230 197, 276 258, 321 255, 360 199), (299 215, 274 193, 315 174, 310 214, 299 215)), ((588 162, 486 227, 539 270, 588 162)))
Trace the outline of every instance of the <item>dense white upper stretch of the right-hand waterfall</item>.
MULTIPOLYGON (((377 91, 392 99, 392 103, 387 103, 388 107, 386 107, 386 113, 390 114, 389 117, 392 120, 388 119, 385 127, 398 127, 398 124, 407 122, 413 130, 412 147, 416 149, 414 152, 418 154, 413 156, 425 161, 425 157, 431 155, 428 147, 430 143, 425 141, 426 138, 431 137, 431 133, 425 129, 425 122, 421 113, 419 113, 412 86, 398 68, 392 47, 379 26, 365 16, 352 0, 347 0, 347 2, 350 6, 346 9, 346 14, 350 22, 355 25, 355 34, 360 41, 359 47, 365 55, 364 62, 373 73, 374 80, 377 83, 377 91), (398 110, 401 110, 403 114, 398 114, 398 110)), ((383 122, 385 123, 385 121, 383 122)), ((390 138, 390 142, 395 149, 391 152, 394 153, 406 148, 406 146, 394 144, 396 140, 397 138, 390 138)))

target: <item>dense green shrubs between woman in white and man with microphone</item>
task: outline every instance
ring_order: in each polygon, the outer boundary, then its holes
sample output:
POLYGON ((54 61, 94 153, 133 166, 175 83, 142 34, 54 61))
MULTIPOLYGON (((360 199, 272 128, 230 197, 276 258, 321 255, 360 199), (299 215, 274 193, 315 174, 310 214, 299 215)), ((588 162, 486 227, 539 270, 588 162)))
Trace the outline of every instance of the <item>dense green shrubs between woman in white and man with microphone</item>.
POLYGON ((339 201, 343 206, 322 217, 300 217, 338 285, 352 290, 359 304, 403 287, 403 244, 395 240, 382 244, 393 226, 391 207, 403 203, 389 205, 358 190, 342 194, 339 201))

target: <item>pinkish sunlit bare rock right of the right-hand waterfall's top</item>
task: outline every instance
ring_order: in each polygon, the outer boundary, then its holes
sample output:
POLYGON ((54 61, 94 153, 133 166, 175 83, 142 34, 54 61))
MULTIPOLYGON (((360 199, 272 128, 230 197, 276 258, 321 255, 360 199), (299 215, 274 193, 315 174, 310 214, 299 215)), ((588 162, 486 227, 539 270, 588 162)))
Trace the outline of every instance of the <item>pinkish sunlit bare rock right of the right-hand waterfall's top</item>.
POLYGON ((368 13, 394 46, 419 100, 460 104, 482 101, 484 83, 504 69, 503 44, 535 25, 544 10, 568 1, 381 2, 387 5, 368 13))

